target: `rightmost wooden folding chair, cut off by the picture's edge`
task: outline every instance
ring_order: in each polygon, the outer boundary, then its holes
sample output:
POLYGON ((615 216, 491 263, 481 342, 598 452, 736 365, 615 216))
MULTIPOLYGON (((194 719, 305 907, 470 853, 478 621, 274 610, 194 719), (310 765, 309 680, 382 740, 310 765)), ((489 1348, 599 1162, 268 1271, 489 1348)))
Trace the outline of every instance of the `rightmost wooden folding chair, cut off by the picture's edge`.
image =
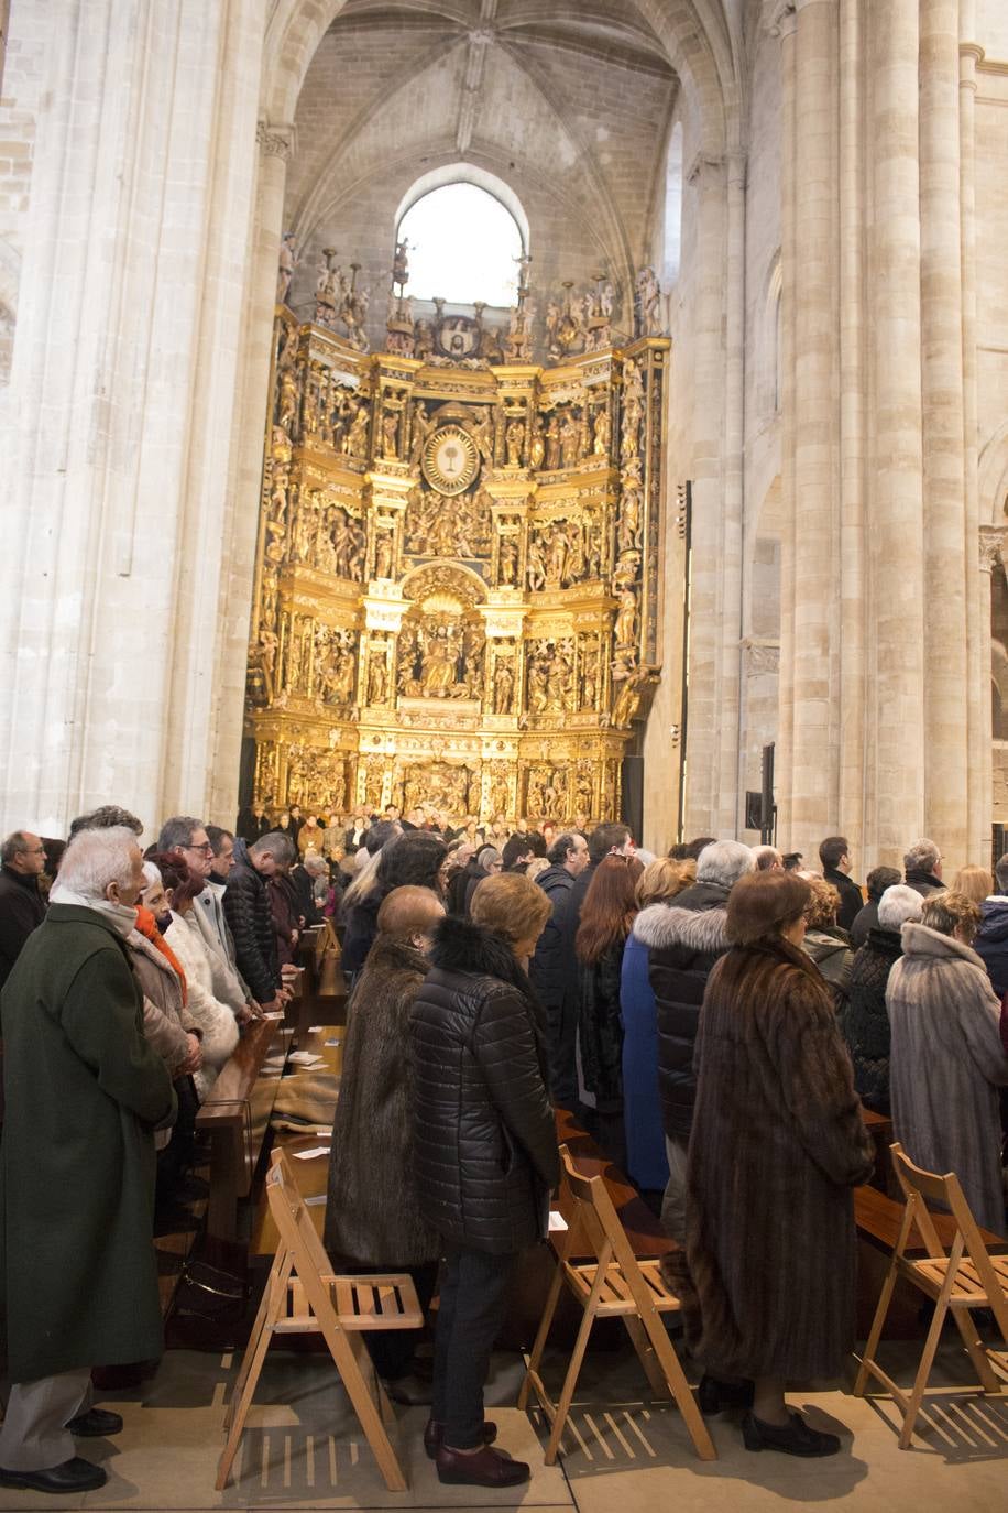
POLYGON ((963 1344, 979 1372, 982 1390, 1002 1390, 1003 1384, 990 1366, 988 1357, 993 1353, 976 1334, 973 1309, 990 1309, 997 1319, 1005 1342, 1008 1342, 1008 1256, 991 1256, 988 1253, 970 1206, 963 1197, 960 1180, 954 1173, 938 1177, 932 1171, 922 1171, 920 1167, 914 1167, 899 1142, 892 1145, 890 1150, 907 1206, 896 1248, 893 1250, 893 1259, 883 1283, 875 1318, 872 1319, 864 1356, 861 1357, 861 1368, 854 1383, 854 1392, 857 1396, 864 1396, 869 1372, 889 1389, 904 1415, 899 1448, 908 1449, 946 1313, 951 1312, 958 1325, 963 1344), (938 1239, 934 1221, 928 1212, 928 1200, 935 1204, 940 1203, 952 1213, 955 1221, 952 1247, 948 1253, 938 1239), (916 1260, 907 1254, 914 1224, 928 1253, 923 1259, 916 1260), (883 1371, 875 1359, 893 1289, 901 1277, 914 1288, 919 1288, 935 1306, 910 1396, 896 1386, 893 1378, 883 1371))

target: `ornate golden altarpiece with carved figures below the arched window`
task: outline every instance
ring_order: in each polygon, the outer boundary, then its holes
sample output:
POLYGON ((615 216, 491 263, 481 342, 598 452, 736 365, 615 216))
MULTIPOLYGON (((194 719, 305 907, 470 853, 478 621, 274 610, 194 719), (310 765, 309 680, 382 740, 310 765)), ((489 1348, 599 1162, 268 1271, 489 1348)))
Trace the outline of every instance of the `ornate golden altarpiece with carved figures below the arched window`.
POLYGON ((561 324, 559 362, 515 362, 520 315, 502 348, 479 307, 438 301, 420 340, 390 321, 400 351, 367 354, 360 331, 278 307, 248 673, 257 799, 618 816, 659 676, 669 343, 600 336, 571 357, 561 324))

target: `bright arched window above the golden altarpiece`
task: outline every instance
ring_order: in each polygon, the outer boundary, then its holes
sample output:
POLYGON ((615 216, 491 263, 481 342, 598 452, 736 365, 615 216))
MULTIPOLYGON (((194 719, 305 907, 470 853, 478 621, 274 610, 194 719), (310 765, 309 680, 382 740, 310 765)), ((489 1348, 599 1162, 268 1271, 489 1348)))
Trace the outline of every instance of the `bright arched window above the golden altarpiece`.
POLYGON ((410 244, 411 298, 503 307, 515 303, 518 259, 529 250, 527 222, 506 185, 479 174, 490 180, 493 188, 487 188, 475 182, 478 172, 459 177, 455 165, 452 180, 444 182, 440 169, 407 195, 396 239, 410 244), (437 179, 441 182, 431 183, 437 179))

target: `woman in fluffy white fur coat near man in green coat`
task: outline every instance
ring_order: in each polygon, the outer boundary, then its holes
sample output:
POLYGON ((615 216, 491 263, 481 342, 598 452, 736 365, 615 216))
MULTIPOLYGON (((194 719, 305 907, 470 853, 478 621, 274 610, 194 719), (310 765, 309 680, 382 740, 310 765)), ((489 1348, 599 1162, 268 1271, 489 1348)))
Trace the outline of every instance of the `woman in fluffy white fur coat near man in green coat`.
POLYGON ((213 996, 213 967, 193 914, 193 899, 204 888, 203 878, 198 878, 177 852, 156 852, 148 861, 153 861, 160 871, 163 899, 151 902, 145 896, 145 903, 156 914, 165 941, 186 973, 187 1008, 203 1032, 199 1042, 203 1065, 193 1074, 196 1095, 203 1103, 237 1045, 237 1020, 233 1009, 213 996))

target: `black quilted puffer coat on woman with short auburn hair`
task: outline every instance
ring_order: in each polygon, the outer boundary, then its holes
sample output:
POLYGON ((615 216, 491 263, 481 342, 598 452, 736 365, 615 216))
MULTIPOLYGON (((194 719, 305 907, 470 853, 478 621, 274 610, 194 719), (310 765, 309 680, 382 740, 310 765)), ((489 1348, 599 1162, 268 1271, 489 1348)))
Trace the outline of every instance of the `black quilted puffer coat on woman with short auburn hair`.
POLYGON ((543 1014, 509 947, 449 917, 413 1005, 420 1212, 453 1245, 511 1254, 546 1233, 559 1179, 543 1014))

